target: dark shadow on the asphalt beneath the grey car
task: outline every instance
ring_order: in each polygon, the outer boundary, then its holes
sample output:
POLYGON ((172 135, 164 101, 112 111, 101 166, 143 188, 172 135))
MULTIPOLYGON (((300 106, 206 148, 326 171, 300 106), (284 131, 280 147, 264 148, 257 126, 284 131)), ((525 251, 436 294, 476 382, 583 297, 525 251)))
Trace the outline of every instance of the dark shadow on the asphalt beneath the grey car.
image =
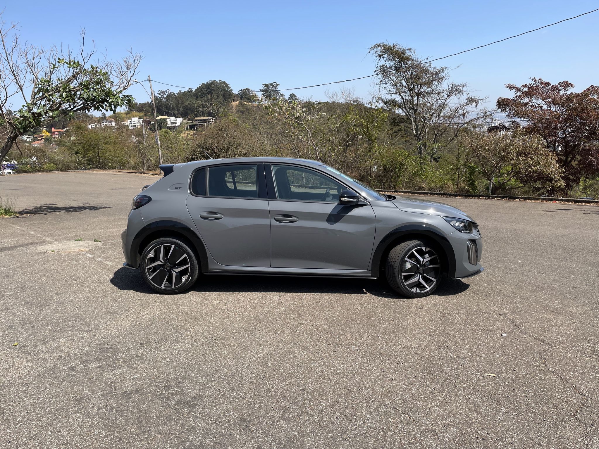
MULTIPOLYGON (((138 293, 156 293, 141 278, 137 270, 119 268, 110 280, 120 290, 138 293)), ((434 295, 450 296, 465 292, 470 284, 461 280, 446 279, 435 290, 434 295)), ((334 293, 344 295, 373 295, 379 298, 400 298, 384 278, 314 278, 293 276, 261 275, 200 275, 187 293, 334 293)))

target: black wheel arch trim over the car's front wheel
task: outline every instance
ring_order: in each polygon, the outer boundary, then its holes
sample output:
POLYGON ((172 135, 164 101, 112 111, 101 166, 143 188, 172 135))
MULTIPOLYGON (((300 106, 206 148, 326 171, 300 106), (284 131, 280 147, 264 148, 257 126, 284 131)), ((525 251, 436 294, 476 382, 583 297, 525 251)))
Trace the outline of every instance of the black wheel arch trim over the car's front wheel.
POLYGON ((446 236, 444 236, 440 231, 426 225, 404 225, 398 226, 389 231, 387 235, 381 239, 374 250, 371 268, 373 277, 379 277, 381 263, 385 263, 381 259, 386 250, 389 250, 392 246, 395 246, 395 242, 398 240, 403 240, 406 237, 418 238, 418 236, 428 237, 443 249, 447 263, 447 277, 455 277, 455 252, 453 251, 452 245, 449 243, 449 240, 447 240, 446 236))

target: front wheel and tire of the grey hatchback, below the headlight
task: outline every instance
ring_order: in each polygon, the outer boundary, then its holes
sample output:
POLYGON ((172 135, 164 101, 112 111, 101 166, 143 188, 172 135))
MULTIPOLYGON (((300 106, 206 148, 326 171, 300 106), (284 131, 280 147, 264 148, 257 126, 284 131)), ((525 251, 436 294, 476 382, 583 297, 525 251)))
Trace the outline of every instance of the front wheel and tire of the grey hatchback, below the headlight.
POLYGON ((423 298, 437 289, 441 278, 441 253, 422 240, 401 242, 389 252, 385 266, 387 281, 407 298, 423 298))

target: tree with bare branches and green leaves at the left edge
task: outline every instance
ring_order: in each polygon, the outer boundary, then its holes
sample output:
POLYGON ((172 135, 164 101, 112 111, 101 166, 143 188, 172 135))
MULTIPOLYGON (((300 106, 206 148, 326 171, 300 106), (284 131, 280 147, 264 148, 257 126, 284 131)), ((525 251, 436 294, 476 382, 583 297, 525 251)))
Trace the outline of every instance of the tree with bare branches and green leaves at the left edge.
MULTIPOLYGON (((1 14, 0 14, 1 20, 1 14)), ((17 138, 60 116, 110 110, 131 105, 125 90, 131 85, 141 55, 93 64, 95 47, 86 50, 85 31, 75 52, 22 43, 17 26, 0 25, 0 161, 17 138), (27 95, 26 92, 31 92, 27 95), (13 110, 13 101, 23 105, 13 110)))

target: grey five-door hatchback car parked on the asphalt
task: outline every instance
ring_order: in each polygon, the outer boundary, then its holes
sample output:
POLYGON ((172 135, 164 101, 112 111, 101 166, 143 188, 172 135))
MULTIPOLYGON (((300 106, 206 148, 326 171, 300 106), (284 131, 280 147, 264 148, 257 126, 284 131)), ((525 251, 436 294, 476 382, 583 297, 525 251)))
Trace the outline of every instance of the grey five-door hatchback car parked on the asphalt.
POLYGON ((377 278, 409 298, 483 271, 476 222, 384 195, 322 162, 283 157, 161 165, 135 196, 123 253, 160 293, 204 274, 377 278))

